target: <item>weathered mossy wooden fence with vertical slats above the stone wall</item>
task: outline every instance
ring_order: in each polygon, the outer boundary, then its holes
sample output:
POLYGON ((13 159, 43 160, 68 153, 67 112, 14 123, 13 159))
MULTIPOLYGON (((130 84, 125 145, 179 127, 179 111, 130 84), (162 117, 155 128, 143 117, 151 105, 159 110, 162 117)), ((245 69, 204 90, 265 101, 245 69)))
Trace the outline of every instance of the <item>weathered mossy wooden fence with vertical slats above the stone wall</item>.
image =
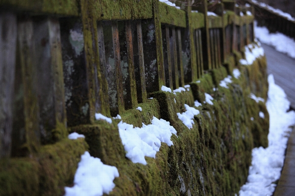
POLYGON ((199 1, 0 0, 0 157, 195 82, 253 41, 248 8, 199 1))

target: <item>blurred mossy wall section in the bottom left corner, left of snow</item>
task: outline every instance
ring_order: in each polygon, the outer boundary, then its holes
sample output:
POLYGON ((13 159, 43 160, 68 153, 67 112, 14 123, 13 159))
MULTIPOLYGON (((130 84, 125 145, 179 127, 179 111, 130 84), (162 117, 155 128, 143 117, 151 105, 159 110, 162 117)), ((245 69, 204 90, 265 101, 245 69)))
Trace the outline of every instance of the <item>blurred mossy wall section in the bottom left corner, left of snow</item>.
POLYGON ((81 155, 88 149, 84 139, 63 139, 41 147, 30 158, 0 161, 0 196, 57 196, 73 184, 81 155))

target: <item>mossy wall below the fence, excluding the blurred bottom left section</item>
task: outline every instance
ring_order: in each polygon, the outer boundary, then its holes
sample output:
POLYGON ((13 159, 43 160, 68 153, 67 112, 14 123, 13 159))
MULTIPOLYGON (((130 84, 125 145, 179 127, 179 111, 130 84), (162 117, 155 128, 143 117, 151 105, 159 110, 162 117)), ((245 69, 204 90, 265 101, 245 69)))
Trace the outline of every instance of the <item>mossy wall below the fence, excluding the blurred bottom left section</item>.
POLYGON ((131 109, 121 116, 123 122, 138 127, 150 123, 155 116, 176 128, 178 137, 172 136, 174 145, 162 143, 155 159, 146 157, 146 166, 125 157, 116 125, 120 120, 111 124, 97 121, 70 129, 86 136, 92 156, 118 168, 120 176, 114 180, 116 187, 109 195, 232 196, 239 191, 248 175, 253 147, 268 145, 269 116, 265 103, 249 98, 253 92, 266 99, 265 57, 252 66, 239 65, 241 76, 233 77, 229 89, 218 86, 237 68, 237 62, 230 58, 227 68, 204 74, 200 83, 190 84, 190 91, 176 96, 168 92, 149 94, 153 99, 139 104, 142 112, 131 109), (213 87, 218 90, 213 91, 213 87), (204 103, 205 92, 214 98, 213 105, 204 103), (203 105, 197 108, 200 114, 195 116, 193 128, 188 129, 177 118, 177 112, 184 112, 184 103, 193 106, 195 100, 203 105), (260 111, 265 114, 264 119, 259 117, 260 111))

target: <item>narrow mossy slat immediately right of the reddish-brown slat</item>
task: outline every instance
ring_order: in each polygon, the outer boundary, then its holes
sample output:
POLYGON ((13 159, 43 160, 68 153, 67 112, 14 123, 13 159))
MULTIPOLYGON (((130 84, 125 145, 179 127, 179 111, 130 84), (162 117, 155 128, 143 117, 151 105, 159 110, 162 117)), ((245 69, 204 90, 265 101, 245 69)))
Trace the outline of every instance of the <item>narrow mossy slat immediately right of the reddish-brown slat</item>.
MULTIPOLYGON (((132 44, 132 30, 130 21, 125 22, 126 27, 126 43, 127 43, 127 58, 128 58, 128 76, 131 94, 131 108, 137 106, 136 81, 133 61, 133 44, 132 44)), ((126 104, 126 101, 125 101, 126 104)), ((126 106, 125 106, 126 107, 126 106)), ((129 109, 129 108, 128 108, 129 109)))

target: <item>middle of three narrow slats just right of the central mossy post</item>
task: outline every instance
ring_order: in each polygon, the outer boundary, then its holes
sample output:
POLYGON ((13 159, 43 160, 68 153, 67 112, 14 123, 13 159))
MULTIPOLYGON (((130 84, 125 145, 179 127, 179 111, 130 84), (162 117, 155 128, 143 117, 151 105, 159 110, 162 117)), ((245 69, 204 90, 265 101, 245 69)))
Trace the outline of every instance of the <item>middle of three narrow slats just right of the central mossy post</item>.
POLYGON ((177 89, 179 88, 179 81, 178 81, 178 60, 177 60, 177 46, 176 46, 176 30, 175 27, 171 27, 172 30, 172 37, 170 37, 170 40, 172 39, 172 59, 173 59, 173 88, 177 89))

